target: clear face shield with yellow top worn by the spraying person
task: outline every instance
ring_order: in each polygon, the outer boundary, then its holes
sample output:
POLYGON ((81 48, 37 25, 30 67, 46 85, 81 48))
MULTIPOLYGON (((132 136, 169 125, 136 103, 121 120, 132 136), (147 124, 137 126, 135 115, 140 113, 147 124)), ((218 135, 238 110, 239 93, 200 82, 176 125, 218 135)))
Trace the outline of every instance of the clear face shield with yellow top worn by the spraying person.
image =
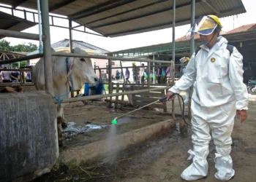
POLYGON ((190 40, 195 33, 208 36, 214 32, 218 24, 209 16, 199 17, 186 34, 186 39, 190 40))

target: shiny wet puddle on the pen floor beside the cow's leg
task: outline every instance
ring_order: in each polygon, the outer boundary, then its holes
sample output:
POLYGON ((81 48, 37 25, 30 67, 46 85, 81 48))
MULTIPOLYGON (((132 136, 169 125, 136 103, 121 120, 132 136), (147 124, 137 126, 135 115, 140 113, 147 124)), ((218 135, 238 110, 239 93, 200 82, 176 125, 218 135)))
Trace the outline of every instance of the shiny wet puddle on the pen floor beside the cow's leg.
POLYGON ((89 132, 91 130, 101 130, 107 125, 95 125, 95 124, 86 124, 84 126, 76 126, 75 122, 68 122, 67 127, 62 130, 64 137, 70 137, 72 135, 77 135, 78 133, 89 132))

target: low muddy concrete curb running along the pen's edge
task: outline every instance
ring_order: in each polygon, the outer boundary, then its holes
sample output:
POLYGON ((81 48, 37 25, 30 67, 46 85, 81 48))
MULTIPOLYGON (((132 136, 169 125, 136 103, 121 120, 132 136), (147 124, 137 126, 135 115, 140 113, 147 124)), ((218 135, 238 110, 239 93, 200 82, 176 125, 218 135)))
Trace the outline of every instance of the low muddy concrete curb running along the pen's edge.
POLYGON ((176 123, 172 119, 168 119, 164 122, 151 124, 147 127, 126 132, 104 141, 89 143, 86 146, 78 146, 74 149, 61 152, 59 162, 68 167, 75 167, 80 165, 80 163, 102 159, 103 157, 106 157, 107 154, 115 154, 115 152, 123 151, 129 146, 146 141, 148 138, 158 135, 159 133, 164 133, 175 126, 176 123))

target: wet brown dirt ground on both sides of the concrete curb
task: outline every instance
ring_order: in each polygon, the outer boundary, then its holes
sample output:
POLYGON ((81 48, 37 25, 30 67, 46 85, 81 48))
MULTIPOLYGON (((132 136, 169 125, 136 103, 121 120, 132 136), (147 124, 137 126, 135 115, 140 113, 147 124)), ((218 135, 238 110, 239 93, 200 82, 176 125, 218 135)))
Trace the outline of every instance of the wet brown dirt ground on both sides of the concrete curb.
MULTIPOLYGON (((256 102, 250 101, 247 121, 240 124, 236 119, 231 152, 233 168, 236 170, 235 177, 230 180, 233 182, 250 182, 256 178, 255 108, 256 102)), ((132 108, 115 111, 105 103, 70 104, 64 109, 69 129, 64 130, 65 142, 61 151, 170 119, 170 114, 163 114, 162 111, 141 110, 118 120, 116 133, 110 133, 110 122, 113 118, 128 111, 132 111, 132 108), (75 122, 75 125, 72 125, 72 122, 75 122)), ((177 121, 180 119, 177 117, 177 121)), ((189 149, 192 149, 191 129, 189 127, 187 135, 182 135, 177 123, 176 128, 164 135, 159 134, 119 154, 74 169, 61 166, 60 170, 53 170, 34 181, 178 182, 182 181, 180 174, 190 164, 187 160, 189 149)), ((214 178, 214 153, 214 144, 211 143, 208 177, 199 181, 218 181, 214 178)))

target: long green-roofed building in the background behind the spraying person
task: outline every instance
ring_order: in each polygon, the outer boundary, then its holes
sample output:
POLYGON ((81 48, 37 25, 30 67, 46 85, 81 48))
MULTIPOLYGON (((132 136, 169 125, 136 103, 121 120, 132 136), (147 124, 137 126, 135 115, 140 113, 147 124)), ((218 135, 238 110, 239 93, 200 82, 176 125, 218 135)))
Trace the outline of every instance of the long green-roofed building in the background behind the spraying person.
MULTIPOLYGON (((221 32, 221 36, 224 36, 228 44, 235 46, 239 52, 244 57, 244 66, 249 67, 249 69, 256 69, 256 59, 255 59, 255 39, 256 39, 256 24, 252 23, 249 25, 241 25, 238 28, 234 28, 231 31, 221 32)), ((195 50, 200 47, 199 36, 195 36, 195 50)), ((146 47, 136 47, 128 50, 119 50, 115 52, 108 52, 108 55, 113 55, 114 57, 129 58, 150 58, 155 60, 166 60, 170 61, 172 59, 173 44, 168 42, 165 44, 154 44, 146 47)), ((179 59, 184 56, 190 56, 190 42, 187 41, 185 36, 176 39, 176 63, 179 63, 179 59)), ((248 69, 248 71, 249 71, 248 69)), ((247 71, 247 68, 246 68, 247 71)), ((245 72, 246 72, 245 71, 245 72)), ((251 71, 250 71, 251 72, 251 71)), ((247 74, 247 73, 246 73, 247 74)), ((252 71, 252 76, 256 76, 255 72, 252 71)))

